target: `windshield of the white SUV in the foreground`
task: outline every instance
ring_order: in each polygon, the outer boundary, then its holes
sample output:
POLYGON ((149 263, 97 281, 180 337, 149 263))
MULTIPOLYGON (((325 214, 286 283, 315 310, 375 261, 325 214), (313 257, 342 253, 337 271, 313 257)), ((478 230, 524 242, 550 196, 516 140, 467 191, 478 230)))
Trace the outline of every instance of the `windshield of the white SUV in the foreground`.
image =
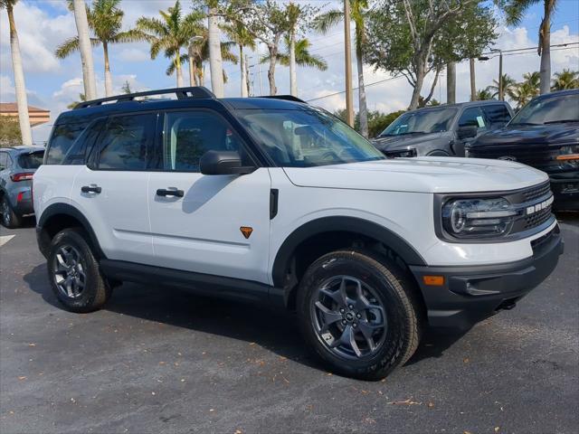
POLYGON ((384 159, 364 137, 319 109, 245 109, 236 113, 261 148, 282 167, 384 159))

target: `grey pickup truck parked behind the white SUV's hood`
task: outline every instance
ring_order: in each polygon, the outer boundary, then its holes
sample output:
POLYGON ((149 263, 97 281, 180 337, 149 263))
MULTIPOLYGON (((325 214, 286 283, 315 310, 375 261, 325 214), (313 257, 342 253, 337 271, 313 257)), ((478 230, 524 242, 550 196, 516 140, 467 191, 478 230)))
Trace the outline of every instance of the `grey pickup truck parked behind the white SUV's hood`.
POLYGON ((477 135, 504 127, 513 110, 504 101, 473 101, 403 113, 372 141, 385 156, 464 156, 477 135))

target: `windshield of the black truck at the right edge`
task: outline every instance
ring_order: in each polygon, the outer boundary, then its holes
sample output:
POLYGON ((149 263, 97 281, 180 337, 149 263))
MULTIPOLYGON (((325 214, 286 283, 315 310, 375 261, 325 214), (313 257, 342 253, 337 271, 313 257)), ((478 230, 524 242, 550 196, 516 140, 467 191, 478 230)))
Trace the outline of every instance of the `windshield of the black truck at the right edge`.
POLYGON ((579 93, 534 99, 508 125, 543 125, 579 122, 579 93))

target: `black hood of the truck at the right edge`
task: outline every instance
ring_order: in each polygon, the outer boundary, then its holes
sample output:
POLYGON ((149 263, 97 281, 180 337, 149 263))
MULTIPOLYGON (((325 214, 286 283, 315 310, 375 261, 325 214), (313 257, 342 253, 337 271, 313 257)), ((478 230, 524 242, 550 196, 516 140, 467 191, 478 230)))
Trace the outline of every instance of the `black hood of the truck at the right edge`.
MULTIPOLYGON (((470 148, 481 146, 564 146, 579 143, 579 124, 507 126, 478 137, 470 148)), ((506 149, 506 148, 505 148, 506 149)))

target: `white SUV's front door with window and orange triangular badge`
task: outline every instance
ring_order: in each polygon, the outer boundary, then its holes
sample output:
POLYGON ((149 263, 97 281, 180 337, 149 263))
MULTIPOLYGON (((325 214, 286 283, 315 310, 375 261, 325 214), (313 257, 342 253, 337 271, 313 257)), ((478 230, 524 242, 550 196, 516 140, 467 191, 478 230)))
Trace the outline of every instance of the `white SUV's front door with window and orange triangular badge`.
POLYGON ((210 110, 169 111, 163 122, 163 171, 148 182, 157 265, 267 283, 268 169, 202 175, 199 160, 208 150, 238 151, 243 165, 253 165, 241 139, 210 110))

